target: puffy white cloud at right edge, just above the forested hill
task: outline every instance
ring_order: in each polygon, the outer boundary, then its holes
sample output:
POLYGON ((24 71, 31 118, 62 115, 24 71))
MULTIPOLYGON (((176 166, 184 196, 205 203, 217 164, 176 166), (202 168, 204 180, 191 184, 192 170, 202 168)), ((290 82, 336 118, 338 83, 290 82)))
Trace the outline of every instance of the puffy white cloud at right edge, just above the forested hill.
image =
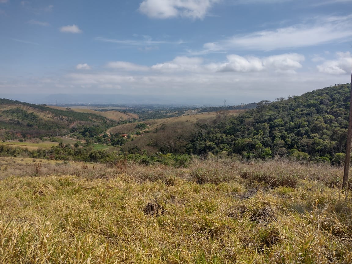
POLYGON ((349 74, 352 67, 352 55, 350 52, 337 52, 337 59, 325 61, 317 66, 318 71, 321 73, 341 75, 349 74))

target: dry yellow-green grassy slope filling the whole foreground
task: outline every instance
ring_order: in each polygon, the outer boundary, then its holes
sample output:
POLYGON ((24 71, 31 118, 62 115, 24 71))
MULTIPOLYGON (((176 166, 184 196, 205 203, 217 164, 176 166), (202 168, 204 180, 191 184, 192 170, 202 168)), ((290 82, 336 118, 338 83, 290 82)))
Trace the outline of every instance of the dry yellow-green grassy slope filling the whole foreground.
POLYGON ((340 168, 32 164, 1 158, 0 263, 352 262, 340 168))

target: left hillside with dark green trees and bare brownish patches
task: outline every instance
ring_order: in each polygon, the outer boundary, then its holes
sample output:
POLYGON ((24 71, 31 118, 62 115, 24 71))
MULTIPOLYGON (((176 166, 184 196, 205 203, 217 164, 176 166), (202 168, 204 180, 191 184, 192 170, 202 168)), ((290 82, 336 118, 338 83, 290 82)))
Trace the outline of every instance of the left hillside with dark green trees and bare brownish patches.
POLYGON ((116 121, 96 113, 0 99, 0 137, 5 140, 62 136, 87 126, 99 127, 101 132, 105 132, 116 124, 116 121))

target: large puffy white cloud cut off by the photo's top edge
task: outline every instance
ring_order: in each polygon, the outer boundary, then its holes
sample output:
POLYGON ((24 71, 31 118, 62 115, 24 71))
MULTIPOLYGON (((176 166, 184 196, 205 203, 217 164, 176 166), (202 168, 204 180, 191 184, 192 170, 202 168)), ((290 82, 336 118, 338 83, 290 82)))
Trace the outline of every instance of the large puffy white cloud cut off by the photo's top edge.
POLYGON ((139 11, 150 18, 188 17, 203 19, 220 0, 144 0, 139 11))

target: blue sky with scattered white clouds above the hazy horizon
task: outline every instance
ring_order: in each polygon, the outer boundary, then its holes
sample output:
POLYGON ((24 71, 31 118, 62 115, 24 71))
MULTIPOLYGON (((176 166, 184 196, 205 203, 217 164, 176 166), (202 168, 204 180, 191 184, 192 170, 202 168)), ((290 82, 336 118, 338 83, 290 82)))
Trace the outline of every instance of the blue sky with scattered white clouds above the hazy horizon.
POLYGON ((351 11, 352 0, 0 0, 0 94, 300 95, 350 81, 351 11))

